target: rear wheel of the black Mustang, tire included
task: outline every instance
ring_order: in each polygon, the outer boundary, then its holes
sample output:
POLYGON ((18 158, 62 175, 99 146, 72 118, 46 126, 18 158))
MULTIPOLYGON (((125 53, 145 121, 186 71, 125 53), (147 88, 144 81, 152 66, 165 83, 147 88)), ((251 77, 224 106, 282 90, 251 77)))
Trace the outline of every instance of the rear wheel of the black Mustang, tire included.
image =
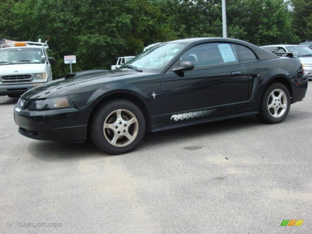
POLYGON ((264 92, 257 117, 268 124, 282 122, 290 109, 290 94, 285 85, 274 83, 264 92))

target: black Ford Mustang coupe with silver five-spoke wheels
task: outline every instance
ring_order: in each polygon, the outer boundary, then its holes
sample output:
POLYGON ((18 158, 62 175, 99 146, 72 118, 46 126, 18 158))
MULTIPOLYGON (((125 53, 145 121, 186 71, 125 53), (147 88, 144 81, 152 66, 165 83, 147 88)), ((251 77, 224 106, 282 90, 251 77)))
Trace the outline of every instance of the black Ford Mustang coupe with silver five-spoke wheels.
POLYGON ((116 71, 66 76, 26 92, 14 109, 19 133, 130 152, 145 131, 256 114, 275 124, 305 97, 298 58, 250 43, 192 38, 158 44, 116 71))

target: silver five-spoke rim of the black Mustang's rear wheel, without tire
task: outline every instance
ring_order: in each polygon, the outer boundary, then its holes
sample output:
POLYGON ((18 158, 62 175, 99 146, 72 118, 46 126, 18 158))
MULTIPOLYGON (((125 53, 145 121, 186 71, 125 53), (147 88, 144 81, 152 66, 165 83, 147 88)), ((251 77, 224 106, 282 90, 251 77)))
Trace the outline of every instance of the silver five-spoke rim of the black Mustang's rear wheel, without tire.
POLYGON ((268 110, 272 117, 279 118, 284 115, 287 108, 287 97, 283 90, 275 89, 268 99, 268 110))

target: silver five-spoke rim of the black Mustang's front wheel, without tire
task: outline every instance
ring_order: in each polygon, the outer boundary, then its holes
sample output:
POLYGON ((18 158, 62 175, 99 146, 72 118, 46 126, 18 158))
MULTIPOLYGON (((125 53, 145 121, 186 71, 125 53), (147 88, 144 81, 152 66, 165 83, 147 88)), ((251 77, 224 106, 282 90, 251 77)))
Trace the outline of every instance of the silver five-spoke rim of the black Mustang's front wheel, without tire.
POLYGON ((139 121, 126 109, 117 109, 107 115, 103 133, 105 139, 113 146, 124 147, 131 144, 139 132, 139 121))

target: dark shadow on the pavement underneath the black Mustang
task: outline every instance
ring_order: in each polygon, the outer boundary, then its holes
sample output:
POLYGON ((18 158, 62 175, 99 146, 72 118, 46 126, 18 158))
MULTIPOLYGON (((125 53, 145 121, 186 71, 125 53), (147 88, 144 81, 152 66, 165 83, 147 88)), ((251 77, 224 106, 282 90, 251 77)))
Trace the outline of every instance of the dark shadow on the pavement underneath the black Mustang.
MULTIPOLYGON (((288 125, 291 122, 295 122, 298 120, 296 116, 296 114, 290 114, 289 118, 286 118, 284 122, 280 124, 288 125)), ((302 115, 300 115, 300 119, 301 118, 303 118, 302 115)), ((198 124, 194 126, 170 129, 155 133, 147 132, 139 147, 128 154, 140 154, 143 151, 154 149, 155 145, 157 145, 157 148, 165 147, 168 142, 176 144, 177 142, 190 141, 195 137, 203 137, 205 135, 217 137, 220 134, 232 134, 236 131, 243 132, 246 129, 254 129, 255 131, 257 131, 257 129, 260 128, 264 130, 266 126, 268 127, 274 125, 275 124, 264 124, 259 121, 255 115, 249 115, 234 119, 227 119, 206 124, 198 124)), ((75 160, 77 158, 103 158, 115 156, 102 152, 91 142, 90 139, 82 144, 34 141, 33 143, 29 144, 28 152, 36 158, 47 161, 75 160)))

